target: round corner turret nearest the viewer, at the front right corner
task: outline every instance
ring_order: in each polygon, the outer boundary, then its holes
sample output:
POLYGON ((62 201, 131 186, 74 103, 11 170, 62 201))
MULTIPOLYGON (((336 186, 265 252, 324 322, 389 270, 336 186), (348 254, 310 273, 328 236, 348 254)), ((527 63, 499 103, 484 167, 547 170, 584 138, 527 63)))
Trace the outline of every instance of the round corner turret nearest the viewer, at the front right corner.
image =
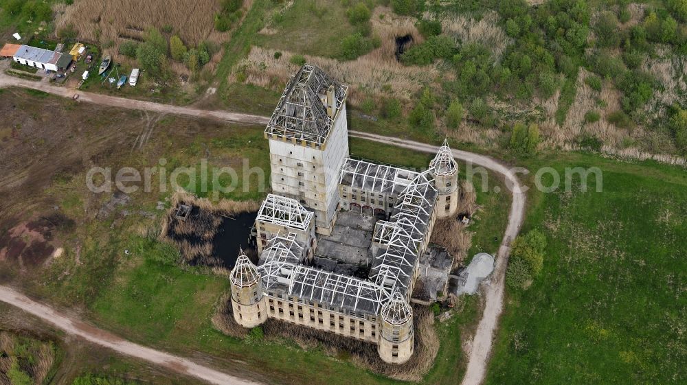
POLYGON ((403 364, 413 355, 413 310, 399 292, 382 307, 377 352, 384 362, 403 364))

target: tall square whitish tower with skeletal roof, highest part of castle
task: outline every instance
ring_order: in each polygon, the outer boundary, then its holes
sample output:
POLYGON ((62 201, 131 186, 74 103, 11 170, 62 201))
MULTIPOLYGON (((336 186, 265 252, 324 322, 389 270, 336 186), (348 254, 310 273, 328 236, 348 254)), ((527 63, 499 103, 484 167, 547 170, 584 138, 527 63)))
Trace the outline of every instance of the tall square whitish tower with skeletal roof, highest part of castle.
POLYGON ((315 231, 329 235, 339 208, 339 170, 348 157, 343 86, 304 65, 286 85, 264 135, 269 139, 272 192, 315 212, 315 231))

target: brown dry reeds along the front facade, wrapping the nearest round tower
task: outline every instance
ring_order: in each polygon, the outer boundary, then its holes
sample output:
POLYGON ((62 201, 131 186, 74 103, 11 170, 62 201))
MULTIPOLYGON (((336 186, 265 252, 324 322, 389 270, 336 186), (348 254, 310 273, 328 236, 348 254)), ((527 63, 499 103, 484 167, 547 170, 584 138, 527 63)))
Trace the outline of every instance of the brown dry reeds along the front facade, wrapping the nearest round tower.
MULTIPOLYGON (((219 331, 236 338, 245 338, 248 329, 238 325, 232 314, 229 294, 221 299, 212 325, 219 331)), ((339 360, 349 360, 357 366, 396 380, 418 382, 431 369, 440 341, 434 328, 434 316, 427 307, 413 305, 415 323, 415 347, 410 360, 402 365, 387 364, 379 358, 376 345, 369 342, 338 336, 309 327, 292 325, 280 320, 269 319, 262 325, 267 343, 295 342, 301 349, 318 349, 339 360)))

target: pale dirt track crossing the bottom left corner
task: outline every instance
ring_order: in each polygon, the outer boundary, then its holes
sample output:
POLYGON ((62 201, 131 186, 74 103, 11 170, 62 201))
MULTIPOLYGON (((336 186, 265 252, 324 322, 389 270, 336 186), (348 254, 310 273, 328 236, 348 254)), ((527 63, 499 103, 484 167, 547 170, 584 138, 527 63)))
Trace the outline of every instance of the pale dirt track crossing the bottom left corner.
POLYGON ((243 380, 238 377, 221 373, 214 369, 207 368, 206 366, 196 364, 195 362, 185 358, 180 358, 176 355, 142 347, 141 345, 129 342, 87 323, 68 318, 64 314, 56 312, 56 310, 52 309, 52 307, 48 307, 33 301, 27 296, 24 296, 23 294, 5 286, 0 286, 0 301, 19 307, 25 312, 33 314, 38 318, 42 318, 48 323, 52 323, 56 327, 64 330, 67 334, 79 336, 85 340, 93 342, 102 347, 113 349, 114 351, 124 355, 130 355, 131 357, 140 358, 142 360, 152 362, 153 364, 164 366, 167 369, 183 375, 197 377, 201 380, 209 382, 210 384, 257 385, 256 382, 243 380))

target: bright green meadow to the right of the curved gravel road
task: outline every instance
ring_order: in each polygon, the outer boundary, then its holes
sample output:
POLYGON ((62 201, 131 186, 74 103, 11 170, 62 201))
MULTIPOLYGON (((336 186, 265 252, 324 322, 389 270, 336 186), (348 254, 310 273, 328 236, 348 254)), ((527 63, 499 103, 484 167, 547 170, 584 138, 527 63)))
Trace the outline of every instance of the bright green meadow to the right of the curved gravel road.
POLYGON ((684 384, 687 173, 583 154, 527 163, 544 165, 600 167, 603 192, 530 194, 523 230, 547 236, 544 270, 509 293, 487 383, 684 384))

